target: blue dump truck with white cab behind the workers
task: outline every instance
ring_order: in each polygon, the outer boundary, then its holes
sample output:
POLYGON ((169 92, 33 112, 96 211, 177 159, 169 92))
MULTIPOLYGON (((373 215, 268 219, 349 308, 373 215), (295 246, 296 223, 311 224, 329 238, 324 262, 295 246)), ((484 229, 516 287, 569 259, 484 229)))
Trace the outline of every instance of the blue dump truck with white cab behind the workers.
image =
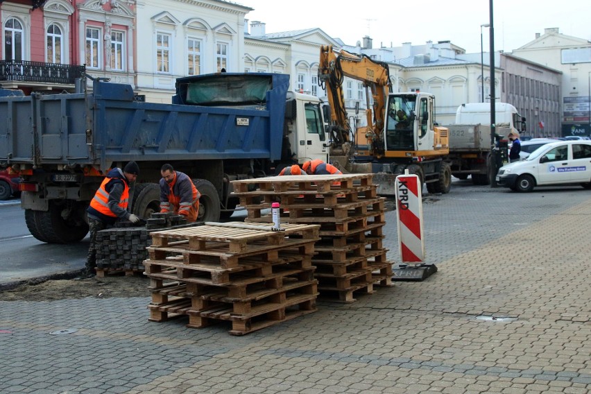
POLYGON ((26 224, 43 242, 83 239, 105 173, 131 160, 141 169, 132 213, 158 212, 160 167, 171 163, 194 178, 198 220, 217 221, 237 206, 231 180, 327 160, 323 104, 288 89, 288 75, 264 73, 178 78, 171 104, 99 80, 76 94, 0 89, 0 166, 21 176, 26 224))

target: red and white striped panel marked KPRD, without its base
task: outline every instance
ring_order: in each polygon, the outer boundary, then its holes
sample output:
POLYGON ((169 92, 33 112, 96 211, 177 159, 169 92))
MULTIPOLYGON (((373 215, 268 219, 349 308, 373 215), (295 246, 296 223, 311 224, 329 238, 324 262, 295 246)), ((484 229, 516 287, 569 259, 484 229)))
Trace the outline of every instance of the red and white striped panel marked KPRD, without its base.
POLYGON ((418 175, 397 176, 396 216, 398 219, 398 248, 402 263, 424 262, 422 196, 418 175))

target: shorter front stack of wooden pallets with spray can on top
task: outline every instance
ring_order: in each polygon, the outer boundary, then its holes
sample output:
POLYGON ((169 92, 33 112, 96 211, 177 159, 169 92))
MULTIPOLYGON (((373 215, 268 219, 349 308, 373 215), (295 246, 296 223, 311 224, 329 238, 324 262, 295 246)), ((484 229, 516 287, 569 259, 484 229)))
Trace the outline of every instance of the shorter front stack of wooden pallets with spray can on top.
POLYGON ((230 334, 243 335, 316 311, 318 228, 205 223, 152 232, 149 320, 188 315, 196 328, 228 320, 230 334))

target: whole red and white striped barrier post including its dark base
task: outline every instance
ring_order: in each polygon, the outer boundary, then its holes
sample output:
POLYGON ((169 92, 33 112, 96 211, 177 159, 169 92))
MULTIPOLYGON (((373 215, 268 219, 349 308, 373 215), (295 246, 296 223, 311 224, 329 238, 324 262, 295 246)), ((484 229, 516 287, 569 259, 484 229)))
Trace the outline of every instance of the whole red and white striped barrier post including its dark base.
POLYGON ((418 175, 406 170, 395 182, 398 249, 401 264, 394 268, 393 280, 424 280, 437 271, 425 264, 425 239, 422 225, 422 194, 418 175))

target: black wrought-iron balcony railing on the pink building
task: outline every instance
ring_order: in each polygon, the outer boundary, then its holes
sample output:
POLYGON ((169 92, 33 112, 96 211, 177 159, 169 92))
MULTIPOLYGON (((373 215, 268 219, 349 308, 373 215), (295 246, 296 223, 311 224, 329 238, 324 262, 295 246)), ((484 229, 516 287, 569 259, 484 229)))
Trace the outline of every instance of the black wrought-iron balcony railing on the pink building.
POLYGON ((59 83, 74 85, 76 78, 84 76, 86 67, 57 63, 0 60, 0 81, 59 83))

